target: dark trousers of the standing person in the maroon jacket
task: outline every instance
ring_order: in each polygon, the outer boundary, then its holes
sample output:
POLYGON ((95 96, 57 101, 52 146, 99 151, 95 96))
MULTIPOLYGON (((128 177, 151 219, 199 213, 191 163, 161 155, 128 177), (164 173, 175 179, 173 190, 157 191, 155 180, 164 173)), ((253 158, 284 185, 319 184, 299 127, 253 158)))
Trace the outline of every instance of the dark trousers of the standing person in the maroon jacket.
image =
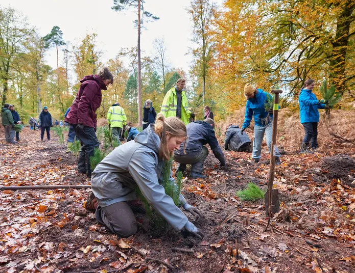
POLYGON ((90 168, 90 156, 93 156, 93 150, 100 145, 95 130, 88 126, 84 126, 83 130, 79 130, 77 124, 70 125, 75 128, 77 139, 80 140, 81 145, 78 157, 78 171, 91 175, 93 170, 90 168))

